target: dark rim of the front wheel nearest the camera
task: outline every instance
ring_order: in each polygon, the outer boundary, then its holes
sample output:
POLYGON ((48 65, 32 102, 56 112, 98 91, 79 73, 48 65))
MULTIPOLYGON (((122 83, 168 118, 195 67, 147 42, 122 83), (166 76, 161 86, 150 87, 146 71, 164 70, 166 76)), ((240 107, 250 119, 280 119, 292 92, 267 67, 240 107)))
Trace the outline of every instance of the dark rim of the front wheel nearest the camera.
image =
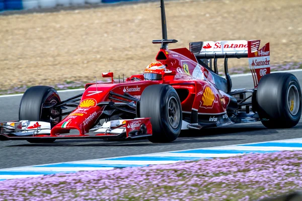
POLYGON ((177 104, 177 99, 171 96, 168 100, 168 119, 169 124, 172 128, 176 129, 179 125, 179 106, 177 104))

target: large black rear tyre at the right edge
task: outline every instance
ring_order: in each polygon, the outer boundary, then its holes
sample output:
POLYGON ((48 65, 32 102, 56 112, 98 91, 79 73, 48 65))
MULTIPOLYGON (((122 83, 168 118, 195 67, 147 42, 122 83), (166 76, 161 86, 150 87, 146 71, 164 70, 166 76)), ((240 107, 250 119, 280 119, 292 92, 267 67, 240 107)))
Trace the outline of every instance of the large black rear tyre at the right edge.
POLYGON ((272 73, 263 76, 257 93, 257 112, 267 119, 267 128, 291 128, 301 117, 301 88, 297 78, 290 73, 272 73))

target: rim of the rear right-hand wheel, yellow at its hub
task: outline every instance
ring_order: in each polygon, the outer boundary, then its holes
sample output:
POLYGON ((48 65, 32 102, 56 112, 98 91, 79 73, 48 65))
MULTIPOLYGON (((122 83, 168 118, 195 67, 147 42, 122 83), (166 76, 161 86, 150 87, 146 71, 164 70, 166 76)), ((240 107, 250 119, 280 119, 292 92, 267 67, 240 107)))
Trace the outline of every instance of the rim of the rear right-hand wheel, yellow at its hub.
POLYGON ((299 112, 300 96, 295 85, 290 85, 287 90, 287 108, 289 113, 294 116, 299 112))

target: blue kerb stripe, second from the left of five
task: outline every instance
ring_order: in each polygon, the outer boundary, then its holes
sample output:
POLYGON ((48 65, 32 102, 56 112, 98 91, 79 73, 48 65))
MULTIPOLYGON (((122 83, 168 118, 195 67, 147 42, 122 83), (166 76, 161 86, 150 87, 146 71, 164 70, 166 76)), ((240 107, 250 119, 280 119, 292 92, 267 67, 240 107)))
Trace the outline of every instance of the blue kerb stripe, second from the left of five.
POLYGON ((60 164, 52 164, 52 165, 37 165, 34 167, 142 167, 142 166, 146 166, 146 165, 60 163, 60 164))

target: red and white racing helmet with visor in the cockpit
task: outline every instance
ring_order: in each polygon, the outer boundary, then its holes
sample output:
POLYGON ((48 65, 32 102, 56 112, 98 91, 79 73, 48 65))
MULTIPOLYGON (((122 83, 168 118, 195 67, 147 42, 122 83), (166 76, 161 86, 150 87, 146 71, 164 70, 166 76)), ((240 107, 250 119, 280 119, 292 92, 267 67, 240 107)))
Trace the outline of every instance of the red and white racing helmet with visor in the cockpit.
POLYGON ((146 80, 161 80, 166 66, 160 62, 154 62, 147 65, 143 72, 143 77, 146 80))

